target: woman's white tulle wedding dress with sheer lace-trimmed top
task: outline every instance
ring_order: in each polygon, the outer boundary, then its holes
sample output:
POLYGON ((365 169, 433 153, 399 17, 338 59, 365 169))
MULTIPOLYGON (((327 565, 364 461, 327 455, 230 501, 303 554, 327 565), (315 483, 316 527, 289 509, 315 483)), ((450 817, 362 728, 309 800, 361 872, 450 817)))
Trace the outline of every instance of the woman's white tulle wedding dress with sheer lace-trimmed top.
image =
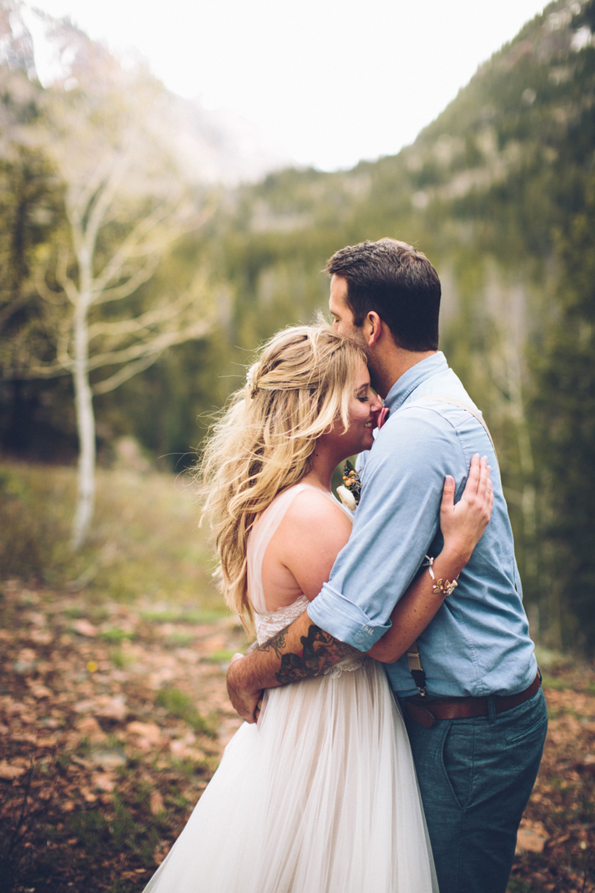
MULTIPOLYGON (((302 596, 268 612, 261 582, 270 538, 305 486, 280 494, 250 536, 248 583, 259 642, 308 605, 302 596)), ((237 730, 186 828, 145 888, 437 891, 407 732, 382 665, 365 655, 344 660, 327 675, 269 690, 258 725, 237 730)))

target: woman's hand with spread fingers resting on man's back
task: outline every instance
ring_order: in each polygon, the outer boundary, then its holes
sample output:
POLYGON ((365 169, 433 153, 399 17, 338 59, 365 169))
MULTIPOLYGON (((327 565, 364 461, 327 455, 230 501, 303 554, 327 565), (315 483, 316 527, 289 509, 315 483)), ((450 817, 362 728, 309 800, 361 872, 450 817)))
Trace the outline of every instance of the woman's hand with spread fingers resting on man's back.
POLYGON ((494 501, 490 467, 485 456, 474 455, 463 495, 455 505, 455 481, 450 475, 444 481, 440 528, 444 549, 460 555, 465 563, 482 537, 492 514, 494 501))

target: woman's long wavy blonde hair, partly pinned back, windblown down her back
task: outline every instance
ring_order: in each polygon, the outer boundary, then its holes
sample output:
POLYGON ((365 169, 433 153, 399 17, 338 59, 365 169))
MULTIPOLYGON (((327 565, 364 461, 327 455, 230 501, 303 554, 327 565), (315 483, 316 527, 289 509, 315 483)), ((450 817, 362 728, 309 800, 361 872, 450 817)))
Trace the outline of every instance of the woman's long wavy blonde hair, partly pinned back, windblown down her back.
POLYGON ((252 524, 282 490, 310 472, 320 435, 349 425, 359 361, 366 356, 327 326, 295 326, 260 350, 245 387, 230 398, 198 466, 220 560, 221 588, 244 628, 252 524))

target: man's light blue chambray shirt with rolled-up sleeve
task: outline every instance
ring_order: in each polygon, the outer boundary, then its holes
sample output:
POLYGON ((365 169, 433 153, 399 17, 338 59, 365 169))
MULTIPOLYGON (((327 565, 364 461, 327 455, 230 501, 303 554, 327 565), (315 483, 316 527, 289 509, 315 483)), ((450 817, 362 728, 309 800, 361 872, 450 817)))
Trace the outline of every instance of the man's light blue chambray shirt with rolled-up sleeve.
MULTIPOLYGON (((362 473, 361 501, 348 544, 330 580, 308 607, 310 619, 342 642, 367 651, 391 625, 390 613, 424 556, 442 548, 439 513, 444 477, 458 499, 471 457, 492 465, 492 518, 434 620, 417 638, 430 697, 510 695, 526 689, 537 664, 522 604, 512 530, 490 438, 473 415, 420 397, 474 405, 442 353, 417 363, 393 385, 391 413, 362 473)), ((407 655, 386 664, 399 697, 417 694, 407 655)))

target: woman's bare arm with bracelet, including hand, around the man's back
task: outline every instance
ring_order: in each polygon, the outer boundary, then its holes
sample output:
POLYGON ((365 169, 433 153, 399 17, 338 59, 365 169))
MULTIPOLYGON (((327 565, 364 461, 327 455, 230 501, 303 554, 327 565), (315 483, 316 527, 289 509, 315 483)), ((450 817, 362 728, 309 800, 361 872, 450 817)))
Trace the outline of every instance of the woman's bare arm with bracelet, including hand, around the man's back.
POLYGON ((490 520, 493 492, 489 475, 480 474, 475 492, 466 488, 457 505, 454 492, 455 482, 449 477, 444 483, 440 509, 442 552, 434 558, 431 571, 428 568, 420 574, 394 606, 391 629, 368 651, 377 661, 399 660, 426 629, 446 597, 444 589, 436 584, 442 580, 445 586, 447 581, 459 577, 490 520))

